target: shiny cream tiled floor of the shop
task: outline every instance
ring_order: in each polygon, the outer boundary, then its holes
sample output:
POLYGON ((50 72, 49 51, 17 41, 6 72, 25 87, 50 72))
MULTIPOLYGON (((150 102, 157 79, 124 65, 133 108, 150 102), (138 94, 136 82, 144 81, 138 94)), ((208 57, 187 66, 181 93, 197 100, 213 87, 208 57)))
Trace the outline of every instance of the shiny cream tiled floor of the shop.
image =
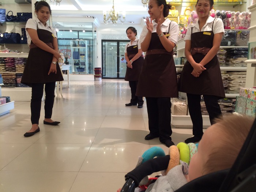
MULTIPOLYGON (((131 97, 128 82, 64 83, 62 99, 54 102, 53 120, 44 125, 42 102, 40 132, 25 138, 31 127, 30 102, 15 102, 0 117, 1 192, 115 192, 124 184, 138 157, 148 148, 168 148, 148 133, 146 103, 142 109, 125 107, 131 97)), ((175 144, 192 129, 174 129, 175 144)))

